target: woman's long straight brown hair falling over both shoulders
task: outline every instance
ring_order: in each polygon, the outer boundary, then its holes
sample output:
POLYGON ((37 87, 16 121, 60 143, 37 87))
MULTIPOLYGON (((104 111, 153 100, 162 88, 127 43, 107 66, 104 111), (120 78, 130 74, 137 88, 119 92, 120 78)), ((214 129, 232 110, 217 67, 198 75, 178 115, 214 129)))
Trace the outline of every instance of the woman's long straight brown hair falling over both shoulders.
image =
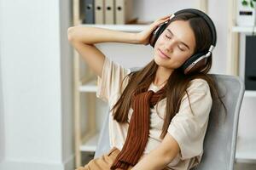
MULTIPOLYGON (((212 37, 209 35, 211 35, 211 31, 207 26, 205 20, 195 14, 190 13, 177 14, 175 17, 172 18, 171 22, 173 22, 174 20, 189 21, 189 26, 195 33, 195 53, 206 52, 210 48, 212 37)), ((172 121, 172 117, 177 114, 183 96, 185 94, 189 96, 187 88, 189 88, 189 82, 194 80, 195 78, 201 78, 206 80, 210 87, 212 99, 219 99, 222 105, 224 105, 218 95, 218 89, 214 80, 211 76, 207 75, 207 72, 211 69, 211 67, 212 55, 207 59, 206 65, 197 68, 196 71, 189 73, 189 75, 185 75, 180 69, 172 71, 172 74, 168 78, 164 87, 166 88, 166 94, 163 95, 162 98, 160 98, 163 99, 166 97, 166 113, 164 118, 164 124, 162 127, 162 133, 160 135, 161 139, 165 137, 169 124, 172 121)), ((111 111, 113 111, 114 120, 119 123, 127 122, 128 112, 131 108, 132 94, 141 93, 145 88, 148 89, 151 82, 154 81, 157 68, 158 65, 154 62, 153 59, 141 70, 133 71, 125 77, 129 79, 129 82, 125 87, 124 91, 122 92, 119 100, 115 105, 113 105, 113 108, 111 109, 111 111)), ((189 106, 192 111, 190 101, 189 106)), ((225 106, 224 109, 226 110, 225 106)))

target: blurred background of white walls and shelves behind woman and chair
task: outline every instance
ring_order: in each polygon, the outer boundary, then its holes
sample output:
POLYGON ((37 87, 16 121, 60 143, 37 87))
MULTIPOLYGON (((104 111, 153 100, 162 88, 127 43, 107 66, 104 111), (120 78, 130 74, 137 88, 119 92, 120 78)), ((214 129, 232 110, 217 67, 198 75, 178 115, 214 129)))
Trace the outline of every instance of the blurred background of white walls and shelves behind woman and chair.
MULTIPOLYGON (((255 6, 255 0, 0 0, 0 169, 71 170, 94 156, 108 105, 96 99, 96 76, 68 42, 68 27, 138 32, 182 8, 199 8, 215 23, 210 72, 245 82, 236 169, 256 169, 255 6)), ((153 59, 149 46, 96 46, 125 67, 153 59)))

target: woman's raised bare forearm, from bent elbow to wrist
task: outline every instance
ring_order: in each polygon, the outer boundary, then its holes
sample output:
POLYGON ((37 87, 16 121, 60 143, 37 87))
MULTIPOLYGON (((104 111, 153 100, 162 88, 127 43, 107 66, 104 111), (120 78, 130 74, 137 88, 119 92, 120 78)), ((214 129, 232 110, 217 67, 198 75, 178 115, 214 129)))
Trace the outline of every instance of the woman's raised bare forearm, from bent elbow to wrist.
POLYGON ((68 39, 86 44, 99 42, 139 43, 136 33, 114 31, 106 28, 90 26, 73 26, 68 28, 68 39))

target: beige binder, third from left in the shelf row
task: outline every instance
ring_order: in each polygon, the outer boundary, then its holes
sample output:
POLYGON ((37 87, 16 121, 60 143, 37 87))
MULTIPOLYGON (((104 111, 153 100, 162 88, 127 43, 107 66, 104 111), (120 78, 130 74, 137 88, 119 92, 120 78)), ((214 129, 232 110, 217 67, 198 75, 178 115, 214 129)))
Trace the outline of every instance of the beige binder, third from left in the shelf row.
POLYGON ((114 3, 115 0, 105 0, 105 24, 115 24, 114 3))

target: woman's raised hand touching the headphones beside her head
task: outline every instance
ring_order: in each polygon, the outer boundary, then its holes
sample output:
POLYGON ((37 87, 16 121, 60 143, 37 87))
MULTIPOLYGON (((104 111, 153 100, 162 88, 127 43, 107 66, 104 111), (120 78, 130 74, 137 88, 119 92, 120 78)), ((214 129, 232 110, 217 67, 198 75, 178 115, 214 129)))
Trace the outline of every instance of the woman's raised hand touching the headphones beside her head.
POLYGON ((150 24, 145 30, 138 32, 136 35, 137 41, 141 44, 148 45, 151 33, 157 28, 157 26, 160 26, 160 24, 169 20, 170 16, 172 16, 172 14, 161 17, 160 19, 155 20, 152 24, 150 24))

